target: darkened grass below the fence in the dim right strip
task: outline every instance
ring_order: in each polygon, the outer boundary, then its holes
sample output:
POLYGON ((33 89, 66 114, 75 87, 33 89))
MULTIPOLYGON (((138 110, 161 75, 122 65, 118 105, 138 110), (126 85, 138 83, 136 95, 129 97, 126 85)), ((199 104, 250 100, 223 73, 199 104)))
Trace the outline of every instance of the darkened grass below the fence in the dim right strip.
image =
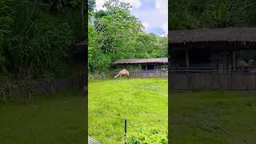
POLYGON ((256 94, 174 92, 170 108, 173 144, 256 143, 256 94))

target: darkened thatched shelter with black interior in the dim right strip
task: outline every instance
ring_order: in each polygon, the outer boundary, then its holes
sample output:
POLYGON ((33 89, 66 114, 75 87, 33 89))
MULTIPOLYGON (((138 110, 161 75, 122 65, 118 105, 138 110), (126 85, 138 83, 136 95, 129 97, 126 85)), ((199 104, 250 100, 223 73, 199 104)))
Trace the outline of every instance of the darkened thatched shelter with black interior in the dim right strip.
POLYGON ((238 67, 239 50, 256 49, 256 27, 171 30, 170 68, 226 72, 238 67))

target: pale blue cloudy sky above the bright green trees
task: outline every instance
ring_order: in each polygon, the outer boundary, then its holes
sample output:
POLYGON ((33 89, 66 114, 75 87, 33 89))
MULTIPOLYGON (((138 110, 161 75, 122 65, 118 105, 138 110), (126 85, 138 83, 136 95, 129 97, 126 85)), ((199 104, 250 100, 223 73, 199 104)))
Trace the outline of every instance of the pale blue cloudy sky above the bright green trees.
MULTIPOLYGON (((96 9, 102 9, 106 0, 96 0, 96 9)), ((131 13, 139 18, 147 33, 164 36, 168 33, 168 0, 120 0, 129 2, 131 13)))

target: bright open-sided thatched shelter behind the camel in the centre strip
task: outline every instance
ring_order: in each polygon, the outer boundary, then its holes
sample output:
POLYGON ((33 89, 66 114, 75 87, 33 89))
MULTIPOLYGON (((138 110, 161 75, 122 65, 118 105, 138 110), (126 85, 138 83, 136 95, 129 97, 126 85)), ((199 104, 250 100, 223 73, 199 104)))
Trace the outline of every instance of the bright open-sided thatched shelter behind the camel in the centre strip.
POLYGON ((167 66, 168 58, 131 58, 118 59, 112 66, 141 66, 142 70, 162 70, 167 66))

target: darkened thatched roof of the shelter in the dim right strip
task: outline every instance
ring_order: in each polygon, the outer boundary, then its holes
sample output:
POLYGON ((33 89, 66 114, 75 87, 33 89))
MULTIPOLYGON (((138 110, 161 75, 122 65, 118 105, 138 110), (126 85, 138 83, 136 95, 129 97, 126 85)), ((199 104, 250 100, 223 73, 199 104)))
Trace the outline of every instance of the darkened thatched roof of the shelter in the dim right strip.
POLYGON ((170 30, 169 42, 256 42, 256 27, 170 30))

